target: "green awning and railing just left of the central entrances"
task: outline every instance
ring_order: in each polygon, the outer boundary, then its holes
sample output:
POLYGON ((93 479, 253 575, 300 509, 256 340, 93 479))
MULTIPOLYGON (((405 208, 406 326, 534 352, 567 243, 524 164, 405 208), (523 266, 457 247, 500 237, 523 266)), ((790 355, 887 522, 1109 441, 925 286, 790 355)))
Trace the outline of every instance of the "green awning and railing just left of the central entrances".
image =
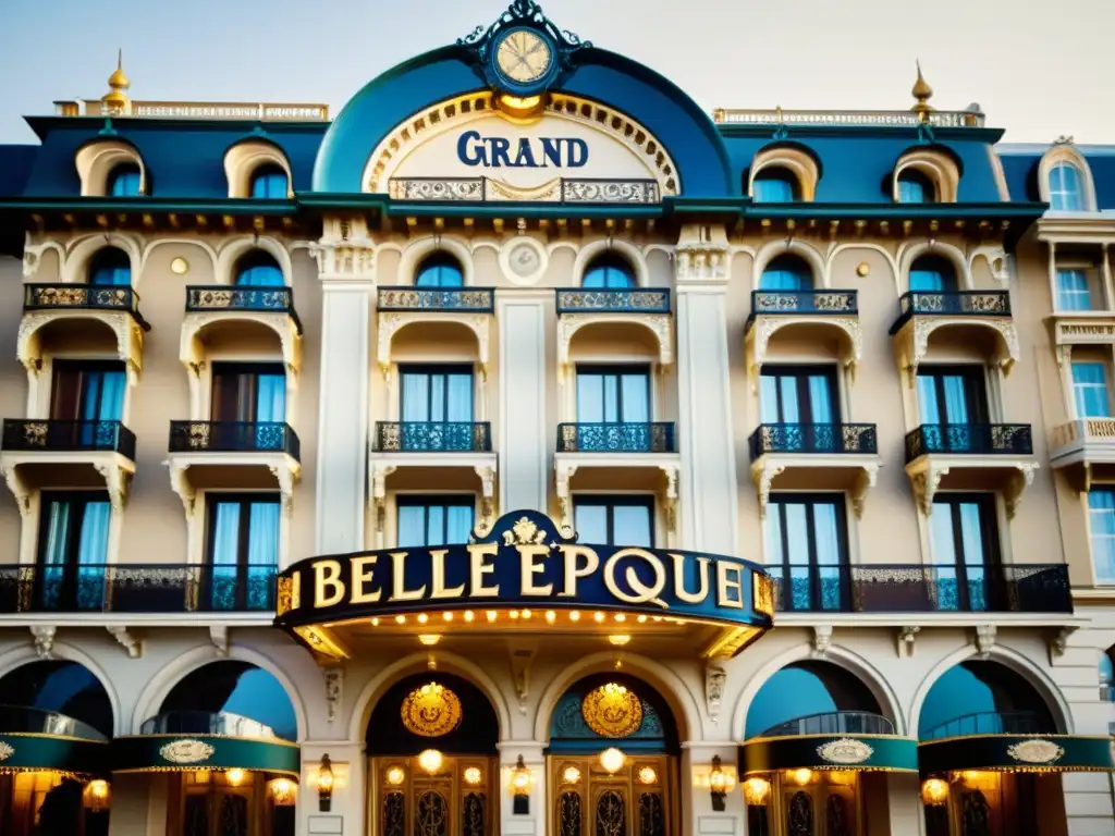
POLYGON ((244 769, 294 778, 301 774, 297 743, 235 715, 165 713, 147 720, 143 731, 113 740, 114 772, 244 769))

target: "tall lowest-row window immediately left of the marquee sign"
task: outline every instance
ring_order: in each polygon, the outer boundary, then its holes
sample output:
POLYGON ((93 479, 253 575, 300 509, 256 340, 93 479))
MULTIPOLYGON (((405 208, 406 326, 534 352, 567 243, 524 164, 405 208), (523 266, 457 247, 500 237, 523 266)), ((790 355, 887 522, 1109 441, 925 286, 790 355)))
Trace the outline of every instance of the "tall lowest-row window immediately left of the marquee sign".
POLYGON ((279 495, 210 494, 203 606, 274 609, 279 565, 279 495))

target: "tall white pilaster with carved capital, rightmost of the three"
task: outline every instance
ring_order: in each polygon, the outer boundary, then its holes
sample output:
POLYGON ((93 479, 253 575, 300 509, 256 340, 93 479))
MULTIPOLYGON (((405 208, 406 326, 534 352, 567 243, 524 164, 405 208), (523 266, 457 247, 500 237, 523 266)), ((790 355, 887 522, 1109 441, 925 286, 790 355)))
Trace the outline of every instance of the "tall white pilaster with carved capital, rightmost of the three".
POLYGON ((735 554, 738 486, 726 313, 730 252, 724 229, 683 227, 675 275, 681 543, 735 554))

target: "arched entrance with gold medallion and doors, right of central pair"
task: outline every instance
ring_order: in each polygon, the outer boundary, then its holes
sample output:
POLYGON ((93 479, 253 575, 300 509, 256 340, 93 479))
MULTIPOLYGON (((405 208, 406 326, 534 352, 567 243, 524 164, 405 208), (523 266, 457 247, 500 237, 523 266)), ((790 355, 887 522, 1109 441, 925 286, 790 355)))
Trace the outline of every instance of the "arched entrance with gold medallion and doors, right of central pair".
POLYGON ((680 833, 678 731, 653 688, 600 673, 575 682, 550 719, 550 833, 680 833))

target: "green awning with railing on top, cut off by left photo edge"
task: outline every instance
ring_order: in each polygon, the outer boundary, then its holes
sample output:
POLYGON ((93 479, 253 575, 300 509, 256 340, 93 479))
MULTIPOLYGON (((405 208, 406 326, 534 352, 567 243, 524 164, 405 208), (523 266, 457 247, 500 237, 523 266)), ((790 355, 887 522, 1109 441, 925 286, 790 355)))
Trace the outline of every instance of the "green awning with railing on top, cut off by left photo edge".
POLYGON ((108 772, 108 739, 66 715, 0 706, 0 774, 108 772))

